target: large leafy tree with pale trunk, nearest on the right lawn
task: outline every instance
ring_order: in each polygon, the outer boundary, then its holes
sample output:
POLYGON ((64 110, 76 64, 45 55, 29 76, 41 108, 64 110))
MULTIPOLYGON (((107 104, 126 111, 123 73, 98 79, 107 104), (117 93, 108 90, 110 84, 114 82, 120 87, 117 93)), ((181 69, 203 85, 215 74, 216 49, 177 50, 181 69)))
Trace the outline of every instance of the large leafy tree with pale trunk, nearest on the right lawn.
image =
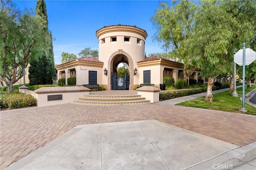
POLYGON ((195 19, 195 31, 186 42, 194 52, 201 75, 208 77, 205 101, 212 102, 214 79, 232 68, 234 52, 256 34, 254 0, 205 0, 195 19))

